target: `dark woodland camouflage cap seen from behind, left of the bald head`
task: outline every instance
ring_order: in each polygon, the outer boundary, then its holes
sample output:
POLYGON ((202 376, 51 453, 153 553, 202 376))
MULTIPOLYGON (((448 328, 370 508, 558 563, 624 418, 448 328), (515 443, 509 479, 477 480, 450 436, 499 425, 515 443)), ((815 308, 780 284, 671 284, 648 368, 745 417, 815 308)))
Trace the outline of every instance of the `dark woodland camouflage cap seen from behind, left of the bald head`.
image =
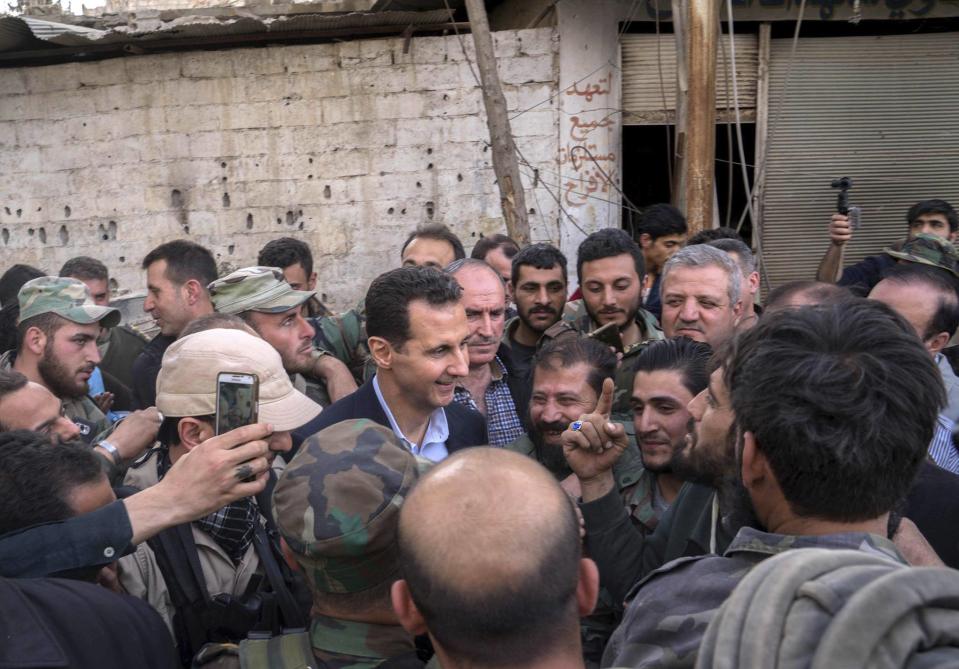
POLYGON ((400 506, 419 471, 393 431, 370 420, 303 442, 273 490, 273 518, 315 591, 360 592, 396 574, 400 506))

